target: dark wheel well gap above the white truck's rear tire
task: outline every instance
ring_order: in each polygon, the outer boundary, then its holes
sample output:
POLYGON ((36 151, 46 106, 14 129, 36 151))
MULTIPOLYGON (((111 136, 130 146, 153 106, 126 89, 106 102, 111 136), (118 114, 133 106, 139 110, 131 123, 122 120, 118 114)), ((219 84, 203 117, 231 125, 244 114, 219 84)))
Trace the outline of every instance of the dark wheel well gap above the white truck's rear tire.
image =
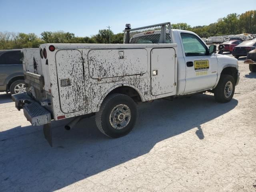
POLYGON ((117 87, 117 88, 113 89, 112 91, 110 91, 108 93, 108 95, 110 95, 112 93, 120 93, 120 94, 130 96, 134 100, 134 102, 142 101, 140 98, 140 94, 134 88, 129 87, 129 86, 117 87))

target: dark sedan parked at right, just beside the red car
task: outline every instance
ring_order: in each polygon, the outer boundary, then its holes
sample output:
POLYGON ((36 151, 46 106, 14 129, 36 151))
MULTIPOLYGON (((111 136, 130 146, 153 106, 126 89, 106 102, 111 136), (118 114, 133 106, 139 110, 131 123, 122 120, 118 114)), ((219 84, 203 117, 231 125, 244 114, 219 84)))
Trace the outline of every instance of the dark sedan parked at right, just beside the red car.
POLYGON ((248 52, 256 48, 256 41, 244 41, 233 48, 232 55, 238 59, 240 56, 247 56, 248 52))

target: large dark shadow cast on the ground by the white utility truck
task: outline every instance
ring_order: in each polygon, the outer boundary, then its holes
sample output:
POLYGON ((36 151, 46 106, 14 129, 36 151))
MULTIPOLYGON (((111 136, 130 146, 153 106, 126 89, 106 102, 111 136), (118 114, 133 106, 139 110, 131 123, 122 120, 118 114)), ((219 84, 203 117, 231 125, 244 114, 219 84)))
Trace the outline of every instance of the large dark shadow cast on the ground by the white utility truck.
POLYGON ((82 120, 70 131, 63 128, 66 122, 53 122, 52 148, 42 127, 18 126, 0 132, 1 190, 58 190, 147 154, 156 143, 193 128, 191 134, 202 140, 201 125, 237 104, 235 99, 219 104, 206 94, 142 104, 134 130, 118 139, 101 134, 94 117, 82 120))

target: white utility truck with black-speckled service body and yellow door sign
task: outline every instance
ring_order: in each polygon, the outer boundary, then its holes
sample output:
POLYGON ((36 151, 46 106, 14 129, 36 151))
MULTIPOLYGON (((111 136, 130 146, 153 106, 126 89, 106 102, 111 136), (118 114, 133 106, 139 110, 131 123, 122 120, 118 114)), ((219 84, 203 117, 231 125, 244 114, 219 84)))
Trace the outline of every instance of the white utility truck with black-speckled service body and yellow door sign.
POLYGON ((69 130, 95 114, 99 130, 118 138, 135 126, 138 102, 205 91, 229 102, 239 82, 238 61, 170 26, 127 24, 124 44, 40 45, 37 70, 24 68, 27 92, 12 95, 16 108, 32 126, 44 126, 52 146, 52 120, 76 117, 65 126, 69 130))

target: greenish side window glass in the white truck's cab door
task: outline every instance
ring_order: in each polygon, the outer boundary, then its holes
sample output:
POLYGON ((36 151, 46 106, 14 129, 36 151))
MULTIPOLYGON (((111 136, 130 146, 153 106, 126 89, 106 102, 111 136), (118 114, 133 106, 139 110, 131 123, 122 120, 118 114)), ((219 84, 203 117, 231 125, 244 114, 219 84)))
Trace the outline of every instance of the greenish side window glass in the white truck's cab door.
POLYGON ((180 35, 186 56, 206 55, 206 46, 197 36, 189 33, 181 33, 180 35))

